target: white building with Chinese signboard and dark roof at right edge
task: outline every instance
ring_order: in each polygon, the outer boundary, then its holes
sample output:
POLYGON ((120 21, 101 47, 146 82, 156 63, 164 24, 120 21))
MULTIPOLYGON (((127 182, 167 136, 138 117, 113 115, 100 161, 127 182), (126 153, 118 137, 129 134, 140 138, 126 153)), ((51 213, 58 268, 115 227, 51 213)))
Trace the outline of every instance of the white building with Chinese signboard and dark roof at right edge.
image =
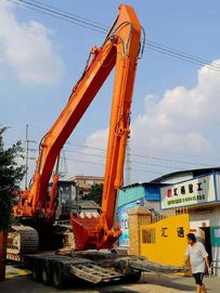
POLYGON ((155 179, 161 211, 187 212, 190 229, 204 242, 220 276, 220 168, 177 171, 155 179))

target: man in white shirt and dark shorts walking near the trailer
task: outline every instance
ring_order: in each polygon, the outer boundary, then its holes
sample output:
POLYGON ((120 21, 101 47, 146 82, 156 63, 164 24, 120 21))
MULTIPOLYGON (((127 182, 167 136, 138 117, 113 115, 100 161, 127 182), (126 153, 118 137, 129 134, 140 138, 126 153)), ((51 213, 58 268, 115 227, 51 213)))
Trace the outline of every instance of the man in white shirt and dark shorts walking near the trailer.
POLYGON ((206 293, 205 284, 203 283, 205 268, 210 272, 208 254, 200 242, 196 242, 193 233, 187 234, 187 250, 185 252, 185 265, 190 260, 191 270, 196 283, 196 293, 206 293))

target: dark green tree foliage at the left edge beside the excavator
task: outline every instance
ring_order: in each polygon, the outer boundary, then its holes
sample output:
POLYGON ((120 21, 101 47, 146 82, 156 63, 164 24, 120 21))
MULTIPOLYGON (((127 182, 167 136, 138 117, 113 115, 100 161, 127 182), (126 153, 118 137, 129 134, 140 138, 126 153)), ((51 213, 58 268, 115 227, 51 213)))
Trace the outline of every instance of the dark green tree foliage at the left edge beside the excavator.
POLYGON ((7 127, 0 127, 0 230, 7 230, 11 220, 12 192, 18 189, 18 183, 25 175, 25 166, 18 164, 23 157, 22 142, 17 141, 5 149, 3 133, 7 127))

